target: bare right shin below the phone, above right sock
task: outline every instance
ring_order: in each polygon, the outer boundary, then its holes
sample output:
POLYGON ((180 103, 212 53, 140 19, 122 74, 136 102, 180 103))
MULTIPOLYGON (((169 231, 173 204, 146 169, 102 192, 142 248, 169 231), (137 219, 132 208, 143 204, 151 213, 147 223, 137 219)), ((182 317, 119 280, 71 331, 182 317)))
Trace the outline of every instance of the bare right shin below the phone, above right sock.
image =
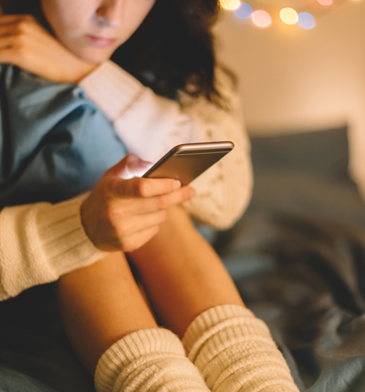
POLYGON ((130 256, 156 315, 181 337, 203 311, 244 305, 223 263, 181 207, 170 208, 160 232, 130 256))

